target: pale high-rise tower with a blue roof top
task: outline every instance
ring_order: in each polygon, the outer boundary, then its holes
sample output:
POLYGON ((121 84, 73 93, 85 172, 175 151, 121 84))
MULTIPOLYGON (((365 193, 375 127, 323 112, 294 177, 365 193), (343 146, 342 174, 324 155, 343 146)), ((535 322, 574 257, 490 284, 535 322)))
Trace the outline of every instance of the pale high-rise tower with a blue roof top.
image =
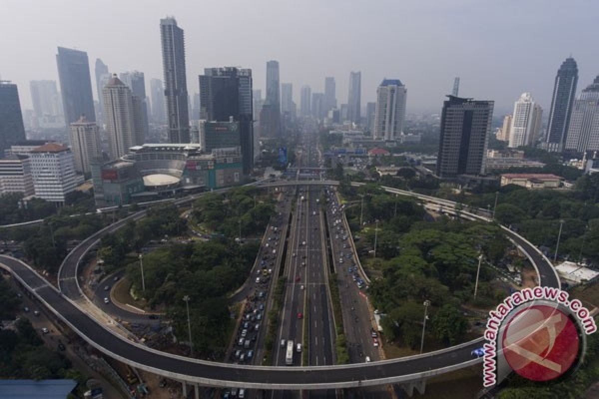
POLYGON ((399 79, 384 79, 377 89, 374 138, 399 139, 406 120, 406 86, 399 79))

